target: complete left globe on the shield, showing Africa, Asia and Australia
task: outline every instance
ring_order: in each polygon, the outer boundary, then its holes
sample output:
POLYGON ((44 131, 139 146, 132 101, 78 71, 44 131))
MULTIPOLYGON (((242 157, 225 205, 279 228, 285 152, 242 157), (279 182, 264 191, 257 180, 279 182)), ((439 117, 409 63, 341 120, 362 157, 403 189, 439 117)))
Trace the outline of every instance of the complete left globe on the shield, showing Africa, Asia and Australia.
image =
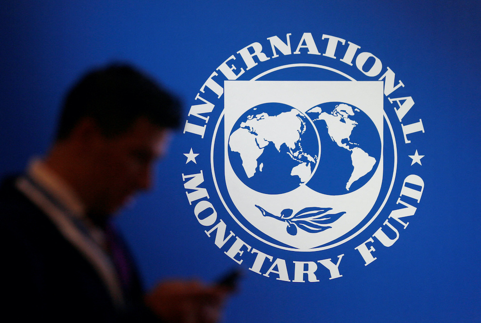
POLYGON ((247 187, 260 193, 286 193, 307 183, 319 155, 319 136, 312 122, 283 103, 249 109, 229 135, 232 169, 247 187))

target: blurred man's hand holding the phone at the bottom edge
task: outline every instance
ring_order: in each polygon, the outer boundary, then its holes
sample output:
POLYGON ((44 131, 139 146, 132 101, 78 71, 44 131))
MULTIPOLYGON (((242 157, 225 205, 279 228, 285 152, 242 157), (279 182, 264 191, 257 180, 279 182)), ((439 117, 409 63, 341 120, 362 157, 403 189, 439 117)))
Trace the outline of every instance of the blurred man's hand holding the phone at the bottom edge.
POLYGON ((146 305, 169 323, 215 323, 229 290, 198 281, 167 281, 145 297, 146 305))

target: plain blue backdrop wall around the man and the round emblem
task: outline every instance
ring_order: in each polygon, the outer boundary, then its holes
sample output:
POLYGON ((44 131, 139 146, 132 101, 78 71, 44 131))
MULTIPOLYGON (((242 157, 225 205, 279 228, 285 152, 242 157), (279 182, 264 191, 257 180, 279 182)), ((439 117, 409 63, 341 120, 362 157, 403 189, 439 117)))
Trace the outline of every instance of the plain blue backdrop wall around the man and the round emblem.
MULTIPOLYGON (((342 278, 294 284, 246 271, 224 322, 480 322, 480 13, 474 0, 2 1, 0 172, 47 151, 63 94, 94 65, 134 63, 187 114, 215 68, 255 41, 342 37, 395 69, 415 101, 423 201, 394 246, 342 278)), ((160 163, 158 187, 118 218, 146 287, 210 282, 237 266, 192 215, 182 140, 160 163)))

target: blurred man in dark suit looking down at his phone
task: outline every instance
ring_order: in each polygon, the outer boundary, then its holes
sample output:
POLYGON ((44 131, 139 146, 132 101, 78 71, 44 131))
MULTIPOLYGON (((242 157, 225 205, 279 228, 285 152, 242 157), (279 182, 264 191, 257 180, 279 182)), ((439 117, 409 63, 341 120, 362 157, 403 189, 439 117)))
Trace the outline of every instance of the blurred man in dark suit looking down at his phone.
POLYGON ((0 189, 4 318, 216 321, 221 288, 177 281, 144 295, 109 221, 151 187, 179 121, 178 102, 129 66, 94 70, 70 90, 49 153, 0 189))

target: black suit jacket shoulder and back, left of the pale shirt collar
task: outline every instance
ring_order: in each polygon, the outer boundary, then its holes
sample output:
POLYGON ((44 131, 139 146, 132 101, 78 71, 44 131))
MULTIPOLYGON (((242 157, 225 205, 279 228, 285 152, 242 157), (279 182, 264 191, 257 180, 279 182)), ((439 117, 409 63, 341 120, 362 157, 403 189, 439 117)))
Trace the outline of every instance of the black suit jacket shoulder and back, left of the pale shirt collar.
POLYGON ((95 320, 99 311, 113 317, 110 297, 95 269, 17 188, 17 179, 9 176, 0 185, 0 243, 5 246, 0 275, 2 288, 14 295, 11 307, 23 311, 28 304, 33 313, 16 315, 57 319, 57 315, 73 314, 95 320))

